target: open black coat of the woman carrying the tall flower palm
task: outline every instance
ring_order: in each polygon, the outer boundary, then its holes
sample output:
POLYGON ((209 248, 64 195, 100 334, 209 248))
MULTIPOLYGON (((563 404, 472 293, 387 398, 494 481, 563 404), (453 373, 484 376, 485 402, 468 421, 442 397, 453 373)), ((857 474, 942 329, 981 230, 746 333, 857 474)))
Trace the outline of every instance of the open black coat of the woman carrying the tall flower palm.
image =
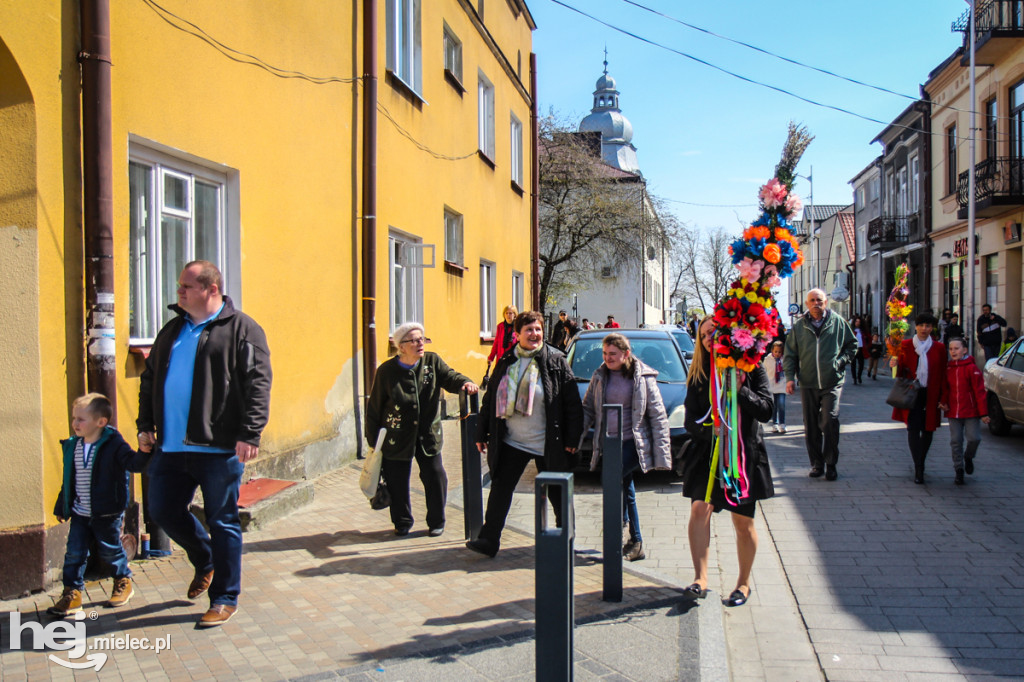
MULTIPOLYGON (((701 418, 711 409, 708 381, 697 382, 686 389, 686 431, 692 441, 686 451, 686 468, 683 473, 683 495, 691 500, 703 500, 711 475, 712 445, 714 427, 701 418), (697 420, 701 420, 698 423, 697 420)), ((762 367, 748 373, 746 380, 739 387, 739 428, 746 456, 746 478, 750 481, 750 497, 743 502, 765 500, 775 495, 768 466, 768 450, 765 447, 764 430, 761 422, 771 419, 774 402, 768 388, 768 375, 762 367)), ((716 485, 718 483, 716 482, 716 485)))

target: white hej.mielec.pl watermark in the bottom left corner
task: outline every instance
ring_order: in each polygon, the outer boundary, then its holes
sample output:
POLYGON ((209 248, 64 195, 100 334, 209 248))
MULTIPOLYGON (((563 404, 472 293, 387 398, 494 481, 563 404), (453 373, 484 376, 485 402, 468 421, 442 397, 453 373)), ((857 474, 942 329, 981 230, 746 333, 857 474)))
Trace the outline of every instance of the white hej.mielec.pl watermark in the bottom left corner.
POLYGON ((106 663, 104 651, 166 651, 171 647, 171 635, 150 639, 148 637, 130 637, 128 635, 94 637, 90 645, 85 635, 86 617, 95 621, 95 611, 90 611, 89 615, 82 611, 75 613, 74 621, 54 621, 47 625, 29 621, 22 623, 22 614, 17 611, 10 613, 10 649, 15 651, 22 648, 22 635, 25 632, 32 633, 32 648, 37 651, 56 650, 67 651, 68 658, 49 654, 49 659, 53 663, 72 669, 94 668, 96 672, 106 663), (86 651, 89 651, 86 655, 86 651), (84 660, 77 660, 82 656, 84 660))

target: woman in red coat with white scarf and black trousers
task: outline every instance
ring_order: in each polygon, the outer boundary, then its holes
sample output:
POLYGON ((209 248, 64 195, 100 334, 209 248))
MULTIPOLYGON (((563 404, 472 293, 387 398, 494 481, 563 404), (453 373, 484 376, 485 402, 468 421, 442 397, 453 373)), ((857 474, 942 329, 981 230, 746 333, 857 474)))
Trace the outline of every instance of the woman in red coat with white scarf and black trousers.
POLYGON ((899 355, 889 360, 897 376, 916 379, 921 388, 909 410, 893 410, 893 420, 906 424, 907 441, 913 458, 913 482, 925 482, 925 458, 932 444, 932 434, 942 421, 939 397, 942 378, 946 376, 946 347, 932 338, 936 319, 925 312, 914 319, 916 333, 904 339, 899 355))

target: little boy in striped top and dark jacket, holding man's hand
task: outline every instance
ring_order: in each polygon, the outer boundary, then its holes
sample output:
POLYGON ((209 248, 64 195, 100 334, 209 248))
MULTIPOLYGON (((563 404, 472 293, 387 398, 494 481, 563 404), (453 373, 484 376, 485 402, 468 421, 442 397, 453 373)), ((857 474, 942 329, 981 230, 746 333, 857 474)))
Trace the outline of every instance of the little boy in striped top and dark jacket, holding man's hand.
POLYGON ((136 453, 117 429, 108 426, 113 408, 106 396, 88 393, 72 407, 75 435, 61 440, 63 484, 53 507, 61 523, 71 521, 65 553, 63 593, 50 615, 66 617, 82 610, 85 565, 95 541, 99 557, 114 567, 110 608, 124 606, 134 589, 128 557, 121 546, 121 519, 128 506, 128 472, 142 471, 151 447, 136 453))

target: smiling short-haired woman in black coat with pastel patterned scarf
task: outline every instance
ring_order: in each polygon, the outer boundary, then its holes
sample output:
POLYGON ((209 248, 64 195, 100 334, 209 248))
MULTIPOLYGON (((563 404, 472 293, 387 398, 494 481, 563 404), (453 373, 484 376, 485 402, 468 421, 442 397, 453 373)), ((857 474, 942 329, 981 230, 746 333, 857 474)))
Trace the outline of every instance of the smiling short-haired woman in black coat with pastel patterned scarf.
MULTIPOLYGON (((466 547, 495 556, 516 483, 530 460, 539 471, 570 471, 583 434, 583 401, 575 377, 558 349, 544 343, 544 317, 527 311, 515 318, 518 342, 498 360, 480 406, 476 447, 490 470, 487 511, 478 538, 466 547)), ((551 491, 558 516, 560 498, 551 491)))

